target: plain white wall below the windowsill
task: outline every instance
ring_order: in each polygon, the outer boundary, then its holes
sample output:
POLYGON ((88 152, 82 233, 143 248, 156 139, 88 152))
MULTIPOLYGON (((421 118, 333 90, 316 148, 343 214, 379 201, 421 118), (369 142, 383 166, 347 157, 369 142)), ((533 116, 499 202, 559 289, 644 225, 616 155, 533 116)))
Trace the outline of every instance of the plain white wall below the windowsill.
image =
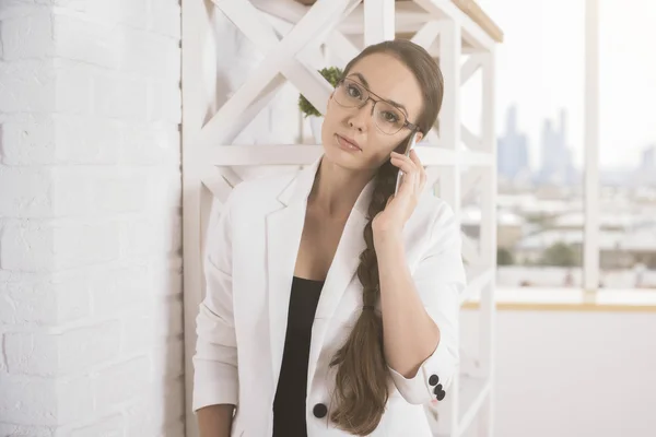
MULTIPOLYGON (((468 351, 477 330, 465 310, 468 351)), ((496 330, 496 436, 656 435, 656 312, 502 310, 496 330)))

